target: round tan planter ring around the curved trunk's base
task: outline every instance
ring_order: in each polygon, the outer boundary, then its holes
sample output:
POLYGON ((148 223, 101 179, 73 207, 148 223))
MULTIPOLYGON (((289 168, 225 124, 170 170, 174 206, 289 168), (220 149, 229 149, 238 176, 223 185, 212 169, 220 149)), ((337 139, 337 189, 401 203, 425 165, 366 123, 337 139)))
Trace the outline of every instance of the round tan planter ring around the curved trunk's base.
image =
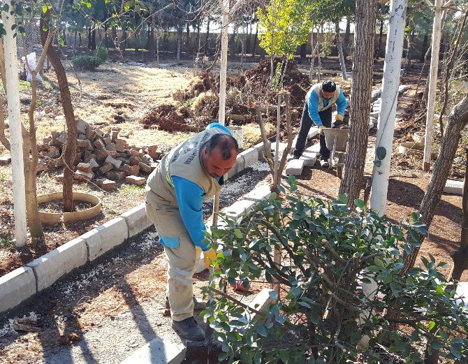
MULTIPOLYGON (((62 192, 45 194, 38 196, 38 204, 63 199, 64 194, 62 192)), ((61 222, 91 219, 101 213, 101 198, 98 198, 97 196, 85 194, 84 192, 73 192, 73 200, 92 203, 94 206, 92 208, 75 212, 45 212, 39 210, 39 219, 41 220, 41 223, 45 226, 52 226, 60 224, 61 222)))

